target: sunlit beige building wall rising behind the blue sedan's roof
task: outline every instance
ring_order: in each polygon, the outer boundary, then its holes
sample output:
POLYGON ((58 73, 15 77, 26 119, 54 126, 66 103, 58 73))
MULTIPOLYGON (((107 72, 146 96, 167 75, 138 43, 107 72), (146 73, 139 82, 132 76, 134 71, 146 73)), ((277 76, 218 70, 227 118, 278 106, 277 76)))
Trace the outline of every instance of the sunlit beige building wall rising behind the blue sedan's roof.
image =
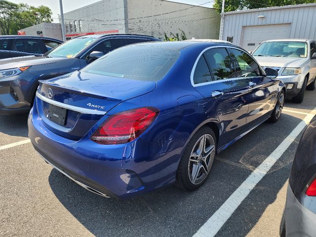
POLYGON ((151 35, 164 39, 164 33, 168 36, 170 32, 180 34, 181 29, 188 39, 219 37, 220 15, 213 8, 193 7, 166 0, 127 0, 127 17, 129 34, 151 35), (163 14, 171 11, 172 13, 163 14))

